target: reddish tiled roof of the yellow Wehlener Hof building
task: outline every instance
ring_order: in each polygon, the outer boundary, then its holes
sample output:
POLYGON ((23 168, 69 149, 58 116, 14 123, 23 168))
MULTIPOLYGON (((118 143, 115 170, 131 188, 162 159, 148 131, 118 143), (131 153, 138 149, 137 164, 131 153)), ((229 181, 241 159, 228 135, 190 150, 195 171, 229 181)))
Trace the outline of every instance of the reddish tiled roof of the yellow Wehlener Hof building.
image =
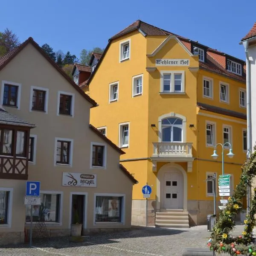
MULTIPOLYGON (((204 47, 204 48, 207 48, 207 61, 209 60, 209 63, 204 63, 204 62, 201 62, 199 61, 199 67, 200 68, 203 68, 203 69, 206 69, 206 70, 209 70, 211 72, 214 72, 214 73, 218 73, 218 74, 221 74, 223 76, 227 76, 227 77, 230 77, 231 79, 236 79, 236 80, 239 80, 239 81, 242 81, 242 82, 245 82, 245 79, 246 79, 246 76, 245 76, 245 72, 246 72, 246 69, 245 69, 245 61, 244 60, 241 60, 241 59, 238 59, 238 58, 235 58, 233 56, 230 56, 230 55, 227 55, 225 54, 224 52, 220 52, 216 49, 212 49, 210 47, 207 47, 203 44, 199 44, 197 41, 192 41, 188 38, 184 38, 180 35, 176 35, 172 32, 169 32, 169 31, 166 31, 164 29, 160 29, 156 26, 152 26, 148 23, 145 23, 141 20, 137 20, 135 21, 134 23, 132 23, 130 26, 126 27, 125 29, 123 29, 122 31, 120 31, 119 33, 117 33, 116 35, 114 35, 113 37, 111 37, 108 41, 108 45, 107 47, 105 48, 104 52, 102 53, 102 57, 100 58, 99 60, 99 63, 97 64, 96 66, 96 70, 99 68, 106 52, 108 51, 108 48, 110 47, 111 45, 111 41, 113 39, 116 39, 116 38, 119 38, 123 35, 126 35, 132 31, 139 31, 141 32, 144 36, 147 36, 147 35, 166 35, 166 36, 169 36, 169 35, 174 35, 175 37, 177 37, 180 42, 191 52, 192 51, 192 46, 191 44, 195 44, 195 45, 199 45, 199 47, 204 47), (228 71, 226 69, 226 57, 230 57, 230 58, 233 58, 235 59, 236 61, 239 61, 239 63, 243 63, 243 73, 242 73, 242 76, 239 76, 239 75, 236 75, 230 71, 228 71)), ((96 71, 95 70, 95 71, 96 71)), ((90 78, 88 79, 87 81, 87 85, 90 84, 90 81, 93 79, 93 76, 96 72, 93 72, 90 76, 90 78)))

